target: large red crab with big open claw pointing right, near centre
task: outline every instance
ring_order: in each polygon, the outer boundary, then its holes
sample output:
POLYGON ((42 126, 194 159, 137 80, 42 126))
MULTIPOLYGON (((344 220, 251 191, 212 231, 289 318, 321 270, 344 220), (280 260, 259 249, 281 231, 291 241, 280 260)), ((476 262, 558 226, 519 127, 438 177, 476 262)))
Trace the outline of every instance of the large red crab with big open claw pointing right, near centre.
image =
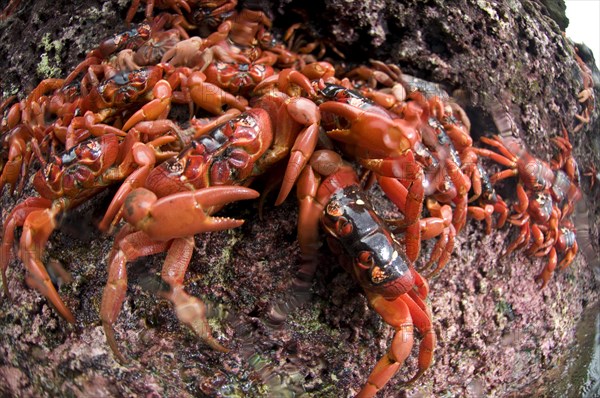
MULTIPOLYGON (((171 287, 166 298, 179 319, 214 349, 226 350, 211 336, 204 304, 183 290, 183 276, 194 234, 241 224, 208 215, 231 200, 257 197, 258 193, 244 185, 282 160, 290 149, 288 178, 293 185, 301 170, 293 152, 312 153, 311 142, 316 138, 307 137, 318 131, 316 105, 305 98, 272 94, 259 100, 262 108, 249 109, 198 137, 177 156, 151 170, 140 168, 132 173, 115 195, 100 225, 116 225, 121 215, 128 225, 117 236, 110 257, 101 317, 109 345, 121 361, 125 358, 112 325, 125 298, 126 264, 163 251, 168 252, 163 279, 171 287)), ((282 195, 285 198, 287 193, 282 195)))

